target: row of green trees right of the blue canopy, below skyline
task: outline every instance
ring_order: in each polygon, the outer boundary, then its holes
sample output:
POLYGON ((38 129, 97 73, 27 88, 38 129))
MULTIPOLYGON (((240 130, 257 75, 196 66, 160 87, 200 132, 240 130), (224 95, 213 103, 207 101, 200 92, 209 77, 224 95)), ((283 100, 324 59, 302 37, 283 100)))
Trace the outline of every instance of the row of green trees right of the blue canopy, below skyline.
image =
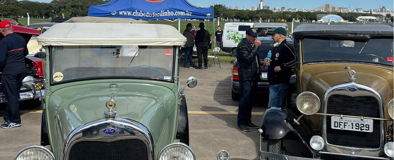
MULTIPOLYGON (((260 18, 263 22, 274 20, 286 20, 287 22, 291 22, 292 19, 300 20, 300 22, 312 22, 313 20, 318 20, 317 15, 326 15, 326 14, 334 14, 339 15, 344 20, 356 21, 359 16, 382 16, 376 15, 372 13, 342 13, 342 12, 291 12, 291 11, 281 11, 281 12, 273 12, 269 9, 260 9, 260 10, 236 10, 229 9, 223 4, 214 4, 210 7, 214 8, 215 18, 221 19, 230 19, 240 20, 240 21, 258 21, 260 18)), ((386 17, 389 19, 392 18, 390 14, 387 14, 386 17)))

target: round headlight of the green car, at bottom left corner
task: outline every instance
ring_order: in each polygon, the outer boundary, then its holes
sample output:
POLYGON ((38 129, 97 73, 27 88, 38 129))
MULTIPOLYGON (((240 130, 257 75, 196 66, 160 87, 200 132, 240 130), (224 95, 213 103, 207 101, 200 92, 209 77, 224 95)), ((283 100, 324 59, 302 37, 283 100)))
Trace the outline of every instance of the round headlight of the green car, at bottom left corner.
POLYGON ((55 156, 46 147, 33 145, 19 151, 14 160, 55 160, 55 156))

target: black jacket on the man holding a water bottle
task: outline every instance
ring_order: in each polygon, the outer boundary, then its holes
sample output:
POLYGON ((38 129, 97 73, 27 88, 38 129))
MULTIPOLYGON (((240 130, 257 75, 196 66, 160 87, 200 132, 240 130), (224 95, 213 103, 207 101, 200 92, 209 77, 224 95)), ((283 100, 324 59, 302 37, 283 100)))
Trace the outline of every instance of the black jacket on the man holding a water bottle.
POLYGON ((271 64, 268 66, 268 82, 274 84, 288 84, 292 76, 292 68, 296 63, 294 48, 286 41, 272 50, 271 64), (281 67, 281 71, 275 72, 276 66, 281 67))

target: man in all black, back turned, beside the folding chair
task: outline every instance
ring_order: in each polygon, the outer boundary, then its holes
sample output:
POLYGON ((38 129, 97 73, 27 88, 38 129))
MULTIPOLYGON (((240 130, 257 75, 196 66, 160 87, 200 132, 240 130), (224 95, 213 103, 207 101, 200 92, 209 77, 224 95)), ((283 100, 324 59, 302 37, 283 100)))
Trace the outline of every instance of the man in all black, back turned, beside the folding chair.
POLYGON ((195 45, 197 46, 197 58, 198 67, 195 69, 203 69, 203 58, 204 58, 204 69, 208 69, 208 44, 211 43, 211 35, 205 30, 205 25, 200 22, 200 30, 197 31, 195 37, 195 45))

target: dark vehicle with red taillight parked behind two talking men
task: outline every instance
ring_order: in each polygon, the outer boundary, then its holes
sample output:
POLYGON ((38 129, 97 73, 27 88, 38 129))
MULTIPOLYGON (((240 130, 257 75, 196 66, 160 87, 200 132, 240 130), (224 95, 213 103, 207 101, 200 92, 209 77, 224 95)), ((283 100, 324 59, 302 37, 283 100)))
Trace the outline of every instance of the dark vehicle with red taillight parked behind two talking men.
MULTIPOLYGON (((271 37, 257 37, 261 41, 260 47, 258 47, 258 55, 260 56, 260 60, 264 60, 267 57, 267 53, 269 50, 273 50, 273 41, 271 37)), ((293 39, 286 38, 291 45, 294 45, 293 39)), ((294 47, 294 46, 293 46, 294 47)), ((232 100, 239 100, 240 99, 240 84, 239 84, 239 77, 238 77, 238 67, 236 67, 237 60, 235 60, 234 65, 232 67, 232 78, 231 78, 231 98, 232 100)), ((258 93, 268 93, 268 67, 260 67, 260 79, 258 80, 258 93)))

